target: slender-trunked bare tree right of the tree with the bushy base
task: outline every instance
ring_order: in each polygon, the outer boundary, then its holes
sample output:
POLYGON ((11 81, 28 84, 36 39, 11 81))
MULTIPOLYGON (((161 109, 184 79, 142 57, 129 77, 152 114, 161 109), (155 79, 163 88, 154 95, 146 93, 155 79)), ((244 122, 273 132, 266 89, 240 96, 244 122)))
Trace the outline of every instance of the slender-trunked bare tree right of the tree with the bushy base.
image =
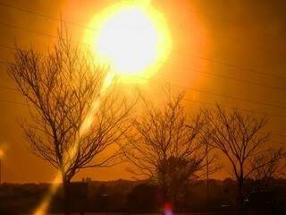
POLYGON ((220 106, 204 109, 203 112, 208 121, 207 132, 212 133, 212 145, 223 152, 231 164, 231 172, 238 184, 242 213, 245 178, 267 163, 260 163, 258 167, 251 165, 252 159, 266 151, 265 143, 269 140, 270 133, 263 130, 267 120, 265 117, 258 118, 255 114, 243 114, 238 110, 227 112, 220 106))

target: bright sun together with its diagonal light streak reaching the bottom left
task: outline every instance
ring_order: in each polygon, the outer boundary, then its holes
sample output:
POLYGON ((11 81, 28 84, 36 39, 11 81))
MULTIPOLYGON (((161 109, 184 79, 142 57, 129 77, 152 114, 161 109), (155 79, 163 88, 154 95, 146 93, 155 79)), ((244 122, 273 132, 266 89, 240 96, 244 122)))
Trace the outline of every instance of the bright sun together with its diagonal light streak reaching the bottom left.
MULTIPOLYGON (((147 0, 114 4, 95 16, 88 29, 85 32, 84 43, 94 47, 95 57, 100 64, 110 65, 101 94, 111 86, 115 77, 123 77, 124 81, 129 81, 132 75, 144 74, 147 78, 156 72, 160 66, 158 63, 162 64, 171 52, 172 42, 164 16, 147 0)), ((78 140, 64 155, 65 167, 69 167, 71 159, 77 154, 80 138, 93 124, 93 116, 99 105, 100 98, 94 99, 88 115, 80 125, 78 140)), ((34 215, 46 214, 61 180, 61 173, 58 173, 34 215)))

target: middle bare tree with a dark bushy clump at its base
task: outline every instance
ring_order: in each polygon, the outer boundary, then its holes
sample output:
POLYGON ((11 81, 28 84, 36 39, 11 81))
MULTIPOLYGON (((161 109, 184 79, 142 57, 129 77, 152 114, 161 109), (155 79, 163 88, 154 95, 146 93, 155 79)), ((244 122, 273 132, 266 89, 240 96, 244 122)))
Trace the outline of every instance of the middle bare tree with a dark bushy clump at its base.
POLYGON ((166 98, 160 106, 142 98, 143 111, 131 121, 133 135, 126 144, 126 157, 136 168, 133 173, 152 178, 164 202, 170 201, 172 190, 179 192, 206 164, 201 139, 203 117, 187 116, 182 106, 183 92, 172 96, 168 91, 166 98), (177 187, 171 190, 174 183, 177 187))

